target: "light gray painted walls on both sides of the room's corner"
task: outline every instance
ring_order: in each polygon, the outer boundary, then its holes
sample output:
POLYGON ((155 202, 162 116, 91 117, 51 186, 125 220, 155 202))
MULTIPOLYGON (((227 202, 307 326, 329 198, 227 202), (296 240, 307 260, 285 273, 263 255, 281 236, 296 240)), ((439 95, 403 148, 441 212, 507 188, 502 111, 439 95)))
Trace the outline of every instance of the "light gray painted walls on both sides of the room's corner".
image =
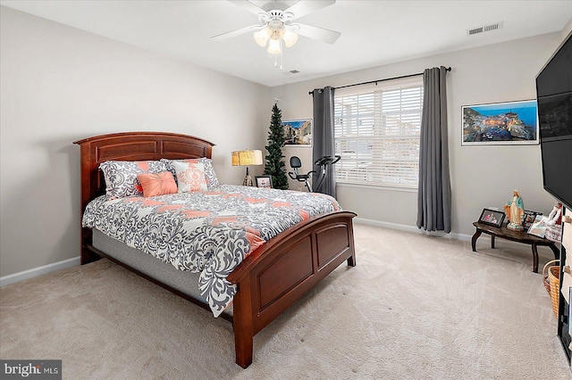
MULTIPOLYGON (((532 99, 534 77, 562 33, 320 78, 272 90, 172 60, 27 13, 1 7, 0 277, 79 255, 80 138, 132 130, 171 131, 212 141, 214 169, 240 184, 233 150, 264 149, 273 98, 282 120, 312 117, 315 87, 452 66, 449 74, 453 234, 472 234, 485 206, 501 207, 513 188, 527 209, 550 211, 540 148, 460 146, 463 104, 532 99)), ((383 54, 383 53, 380 53, 383 54)), ((311 150, 286 148, 309 170, 311 150)), ((261 173, 253 168, 252 174, 261 173)), ((296 189, 299 184, 292 183, 296 189)), ((345 209, 360 218, 414 228, 416 192, 339 186, 345 209)))

